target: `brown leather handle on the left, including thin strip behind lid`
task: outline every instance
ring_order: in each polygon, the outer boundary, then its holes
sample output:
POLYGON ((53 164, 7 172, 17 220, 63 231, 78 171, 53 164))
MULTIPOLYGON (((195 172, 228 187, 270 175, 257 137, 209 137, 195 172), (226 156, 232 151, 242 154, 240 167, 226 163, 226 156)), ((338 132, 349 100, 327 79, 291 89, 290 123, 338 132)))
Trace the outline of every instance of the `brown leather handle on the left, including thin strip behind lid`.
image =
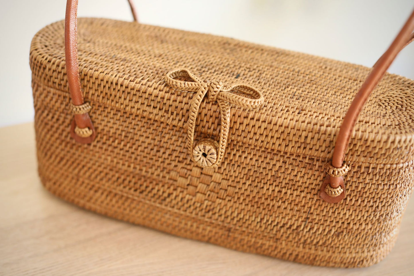
MULTIPOLYGON (((138 21, 132 0, 128 0, 134 21, 138 21)), ((77 6, 78 0, 67 0, 65 15, 65 63, 72 108, 75 111, 71 136, 79 143, 91 143, 96 136, 94 126, 87 111, 90 107, 84 103, 79 79, 77 61, 77 6)))

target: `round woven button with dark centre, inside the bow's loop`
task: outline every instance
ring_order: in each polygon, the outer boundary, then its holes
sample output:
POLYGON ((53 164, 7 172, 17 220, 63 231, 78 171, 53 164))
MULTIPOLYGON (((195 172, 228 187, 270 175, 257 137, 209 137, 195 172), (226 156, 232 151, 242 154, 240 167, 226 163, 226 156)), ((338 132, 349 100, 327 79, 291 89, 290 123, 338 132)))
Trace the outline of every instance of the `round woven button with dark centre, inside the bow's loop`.
POLYGON ((193 159, 200 167, 210 167, 217 160, 217 148, 219 143, 213 139, 202 139, 195 144, 193 159))

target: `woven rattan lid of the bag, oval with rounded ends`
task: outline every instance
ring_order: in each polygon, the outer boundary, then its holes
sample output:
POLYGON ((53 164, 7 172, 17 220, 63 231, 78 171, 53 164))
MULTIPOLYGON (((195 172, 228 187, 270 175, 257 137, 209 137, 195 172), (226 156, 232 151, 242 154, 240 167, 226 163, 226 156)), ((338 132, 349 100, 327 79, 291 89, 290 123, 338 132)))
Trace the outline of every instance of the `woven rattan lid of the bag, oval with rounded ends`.
MULTIPOLYGON (((63 21, 39 31, 30 62, 34 76, 67 91, 63 34, 63 21)), ((188 68, 200 79, 262 91, 265 103, 259 108, 232 106, 229 139, 303 156, 332 156, 342 118, 370 70, 231 38, 110 19, 79 19, 78 36, 82 90, 92 120, 103 116, 93 113, 99 104, 184 127, 194 93, 171 89, 165 75, 188 68)), ((356 123, 345 160, 413 160, 413 103, 414 81, 386 74, 356 123)), ((217 110, 217 103, 202 103, 197 133, 217 136, 217 110)))

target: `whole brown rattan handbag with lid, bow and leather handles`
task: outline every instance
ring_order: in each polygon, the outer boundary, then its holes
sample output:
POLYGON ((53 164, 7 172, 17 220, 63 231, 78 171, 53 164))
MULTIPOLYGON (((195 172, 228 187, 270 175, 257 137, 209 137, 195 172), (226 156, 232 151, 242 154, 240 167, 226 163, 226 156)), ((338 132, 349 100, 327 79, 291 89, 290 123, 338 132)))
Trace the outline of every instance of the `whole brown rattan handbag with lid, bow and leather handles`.
POLYGON ((67 0, 65 22, 31 43, 41 181, 86 209, 186 238, 305 264, 375 264, 414 185, 414 81, 385 72, 413 29, 414 12, 370 69, 77 19, 67 0))

